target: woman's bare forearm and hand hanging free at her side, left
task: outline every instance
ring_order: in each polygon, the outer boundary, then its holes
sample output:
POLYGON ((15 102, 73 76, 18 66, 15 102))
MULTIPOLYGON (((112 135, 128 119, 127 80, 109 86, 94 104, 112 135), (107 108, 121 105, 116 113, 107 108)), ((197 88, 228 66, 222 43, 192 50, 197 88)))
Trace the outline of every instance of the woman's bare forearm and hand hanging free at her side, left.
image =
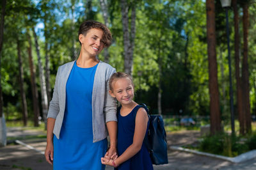
POLYGON ((53 128, 54 128, 55 119, 47 118, 47 144, 45 148, 45 159, 49 164, 53 162, 53 128))

